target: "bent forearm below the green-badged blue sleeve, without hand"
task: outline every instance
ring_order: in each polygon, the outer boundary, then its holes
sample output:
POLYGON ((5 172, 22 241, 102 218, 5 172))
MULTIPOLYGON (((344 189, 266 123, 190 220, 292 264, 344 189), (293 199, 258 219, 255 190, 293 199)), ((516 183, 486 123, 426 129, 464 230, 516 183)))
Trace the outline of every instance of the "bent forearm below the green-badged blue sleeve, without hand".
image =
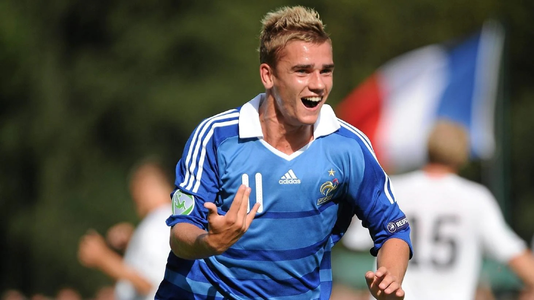
POLYGON ((170 248, 183 259, 201 259, 221 254, 207 243, 208 232, 189 223, 178 223, 170 231, 170 248))

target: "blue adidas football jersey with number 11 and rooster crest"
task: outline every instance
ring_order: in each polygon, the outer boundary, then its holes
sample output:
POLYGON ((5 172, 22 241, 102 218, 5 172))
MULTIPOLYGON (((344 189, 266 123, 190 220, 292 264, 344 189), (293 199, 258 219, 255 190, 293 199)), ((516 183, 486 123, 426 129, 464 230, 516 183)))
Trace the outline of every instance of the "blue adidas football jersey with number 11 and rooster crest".
POLYGON ((354 215, 374 240, 411 248, 410 228, 367 137, 323 105, 313 141, 287 155, 263 140, 264 94, 202 121, 176 167, 173 214, 207 230, 206 201, 219 215, 241 184, 260 209, 248 231, 221 255, 185 260, 169 254, 156 299, 328 299, 330 254, 354 215))

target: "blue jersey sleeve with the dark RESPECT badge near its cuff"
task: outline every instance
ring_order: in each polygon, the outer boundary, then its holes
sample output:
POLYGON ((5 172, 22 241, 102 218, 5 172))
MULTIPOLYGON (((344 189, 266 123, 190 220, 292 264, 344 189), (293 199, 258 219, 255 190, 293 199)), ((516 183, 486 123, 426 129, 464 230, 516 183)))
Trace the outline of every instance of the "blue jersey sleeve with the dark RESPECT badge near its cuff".
POLYGON ((397 238, 409 245, 411 258, 410 225, 395 200, 391 180, 376 160, 369 141, 364 138, 358 144, 359 151, 352 154, 350 163, 348 199, 373 239, 370 252, 373 256, 378 255, 384 242, 397 238))

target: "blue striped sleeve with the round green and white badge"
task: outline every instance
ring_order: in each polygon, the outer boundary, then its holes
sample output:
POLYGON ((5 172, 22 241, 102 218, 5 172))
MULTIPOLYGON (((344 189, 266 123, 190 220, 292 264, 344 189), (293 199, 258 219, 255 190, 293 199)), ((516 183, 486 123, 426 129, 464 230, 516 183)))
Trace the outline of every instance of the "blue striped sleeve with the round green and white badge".
MULTIPOLYGON (((207 119, 208 120, 208 119, 207 119)), ((213 135, 207 120, 191 133, 176 165, 175 190, 171 193, 172 215, 168 226, 180 222, 207 227, 205 202, 214 202, 218 193, 218 170, 213 135)))

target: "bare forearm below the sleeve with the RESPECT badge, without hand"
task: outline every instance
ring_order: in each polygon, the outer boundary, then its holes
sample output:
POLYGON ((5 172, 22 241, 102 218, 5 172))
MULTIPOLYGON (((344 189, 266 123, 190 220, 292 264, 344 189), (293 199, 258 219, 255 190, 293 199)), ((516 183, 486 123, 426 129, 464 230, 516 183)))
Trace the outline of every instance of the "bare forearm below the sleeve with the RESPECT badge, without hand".
POLYGON ((408 244, 403 240, 392 238, 387 240, 378 251, 376 269, 381 266, 386 267, 396 277, 397 282, 402 283, 409 259, 408 244))

